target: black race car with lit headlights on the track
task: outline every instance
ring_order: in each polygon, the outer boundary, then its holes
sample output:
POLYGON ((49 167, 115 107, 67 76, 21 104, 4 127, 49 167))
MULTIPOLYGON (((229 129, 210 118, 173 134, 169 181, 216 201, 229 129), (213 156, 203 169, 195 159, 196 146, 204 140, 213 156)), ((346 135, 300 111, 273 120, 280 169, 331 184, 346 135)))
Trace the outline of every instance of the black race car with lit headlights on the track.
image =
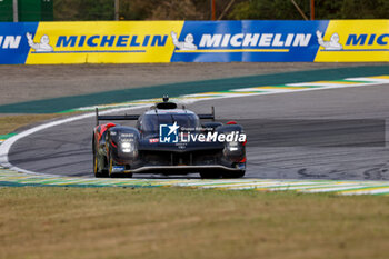
POLYGON ((246 170, 246 135, 233 121, 215 122, 210 114, 196 114, 177 103, 157 103, 141 116, 99 116, 93 130, 96 177, 132 177, 132 173, 183 175, 202 178, 240 178, 246 170), (137 120, 136 127, 101 120, 137 120), (202 122, 200 120, 211 120, 202 122))

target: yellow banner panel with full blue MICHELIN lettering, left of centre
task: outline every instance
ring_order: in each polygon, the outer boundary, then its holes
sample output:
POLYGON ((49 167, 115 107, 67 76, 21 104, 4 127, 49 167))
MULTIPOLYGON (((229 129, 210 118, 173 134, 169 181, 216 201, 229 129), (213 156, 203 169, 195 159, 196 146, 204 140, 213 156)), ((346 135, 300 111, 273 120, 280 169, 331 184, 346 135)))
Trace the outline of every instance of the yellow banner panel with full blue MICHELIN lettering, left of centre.
POLYGON ((183 21, 40 22, 26 63, 169 62, 183 21))

